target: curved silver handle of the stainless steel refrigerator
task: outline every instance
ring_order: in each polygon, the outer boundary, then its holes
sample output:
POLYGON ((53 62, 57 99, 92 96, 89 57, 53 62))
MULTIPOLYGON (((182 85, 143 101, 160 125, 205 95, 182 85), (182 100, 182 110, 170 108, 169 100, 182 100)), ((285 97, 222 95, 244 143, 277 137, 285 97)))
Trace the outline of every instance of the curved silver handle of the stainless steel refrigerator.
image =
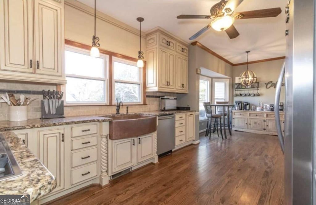
POLYGON ((277 131, 277 136, 279 138, 279 142, 280 142, 280 146, 281 146, 283 154, 284 154, 284 138, 283 138, 282 129, 281 129, 279 103, 280 103, 281 87, 282 87, 284 73, 285 73, 285 61, 282 65, 281 73, 280 73, 280 76, 277 80, 276 97, 275 97, 275 102, 274 102, 274 114, 275 114, 275 118, 276 118, 276 131, 277 131))

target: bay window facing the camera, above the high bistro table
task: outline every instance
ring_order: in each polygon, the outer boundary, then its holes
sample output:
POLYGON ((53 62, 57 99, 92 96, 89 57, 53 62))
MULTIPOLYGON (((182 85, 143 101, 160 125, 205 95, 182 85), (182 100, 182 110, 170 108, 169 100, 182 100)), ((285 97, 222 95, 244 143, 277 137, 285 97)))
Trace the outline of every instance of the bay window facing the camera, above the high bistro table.
POLYGON ((213 103, 229 101, 229 79, 213 78, 213 103))

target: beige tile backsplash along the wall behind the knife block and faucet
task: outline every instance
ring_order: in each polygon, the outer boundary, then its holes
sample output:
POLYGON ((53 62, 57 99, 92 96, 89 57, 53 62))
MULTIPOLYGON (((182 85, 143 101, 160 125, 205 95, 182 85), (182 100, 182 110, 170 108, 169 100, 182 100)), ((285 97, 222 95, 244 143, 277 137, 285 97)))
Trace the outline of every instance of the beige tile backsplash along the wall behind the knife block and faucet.
MULTIPOLYGON (((25 92, 27 98, 39 97, 38 100, 33 101, 27 108, 28 119, 36 119, 41 116, 41 90, 56 90, 56 85, 52 84, 37 84, 37 83, 13 83, 13 82, 0 82, 0 96, 4 94, 5 90, 16 90, 16 98, 19 98, 21 92, 25 92), (40 92, 34 92, 34 90, 40 92), (33 92, 31 92, 33 91, 33 92), (36 94, 33 94, 36 93, 36 94)), ((162 92, 149 92, 147 93, 147 105, 129 105, 128 111, 144 112, 154 111, 159 109, 159 97, 164 95, 172 95, 170 93, 162 92)), ((175 95, 175 94, 174 94, 175 95)), ((103 115, 113 114, 116 112, 116 106, 66 106, 64 107, 65 116, 78 116, 78 115, 103 115)), ((121 113, 126 112, 126 106, 123 105, 120 110, 121 113)), ((0 121, 9 120, 9 106, 6 103, 0 103, 0 121)))

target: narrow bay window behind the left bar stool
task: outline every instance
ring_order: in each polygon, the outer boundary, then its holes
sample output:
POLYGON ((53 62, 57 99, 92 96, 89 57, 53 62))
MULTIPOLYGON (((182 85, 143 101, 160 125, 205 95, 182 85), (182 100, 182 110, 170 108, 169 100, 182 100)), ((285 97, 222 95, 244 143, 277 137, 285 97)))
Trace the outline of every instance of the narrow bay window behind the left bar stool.
POLYGON ((203 102, 210 102, 210 78, 200 77, 200 91, 199 91, 199 118, 206 119, 206 113, 203 102))

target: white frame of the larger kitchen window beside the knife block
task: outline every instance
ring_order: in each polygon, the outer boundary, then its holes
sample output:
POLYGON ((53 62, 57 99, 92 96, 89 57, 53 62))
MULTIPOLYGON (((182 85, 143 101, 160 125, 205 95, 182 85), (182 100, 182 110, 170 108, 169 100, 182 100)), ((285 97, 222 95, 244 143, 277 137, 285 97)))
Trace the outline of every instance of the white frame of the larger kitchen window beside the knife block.
MULTIPOLYGON (((80 47, 75 47, 71 45, 65 45, 65 52, 70 51, 74 53, 80 53, 80 54, 85 54, 90 56, 90 51, 87 49, 83 49, 80 47)), ((63 86, 62 91, 64 92, 64 105, 65 106, 84 106, 84 105, 109 105, 109 61, 110 61, 110 56, 107 54, 100 53, 100 57, 104 60, 104 65, 103 65, 103 78, 96 78, 96 77, 90 77, 90 76, 82 76, 82 75, 76 75, 76 74, 67 74, 66 73, 66 67, 65 67, 65 78, 70 77, 70 78, 79 78, 79 79, 91 79, 91 80, 102 80, 104 81, 104 97, 105 97, 105 102, 67 102, 66 101, 66 86, 65 84, 63 86)))

